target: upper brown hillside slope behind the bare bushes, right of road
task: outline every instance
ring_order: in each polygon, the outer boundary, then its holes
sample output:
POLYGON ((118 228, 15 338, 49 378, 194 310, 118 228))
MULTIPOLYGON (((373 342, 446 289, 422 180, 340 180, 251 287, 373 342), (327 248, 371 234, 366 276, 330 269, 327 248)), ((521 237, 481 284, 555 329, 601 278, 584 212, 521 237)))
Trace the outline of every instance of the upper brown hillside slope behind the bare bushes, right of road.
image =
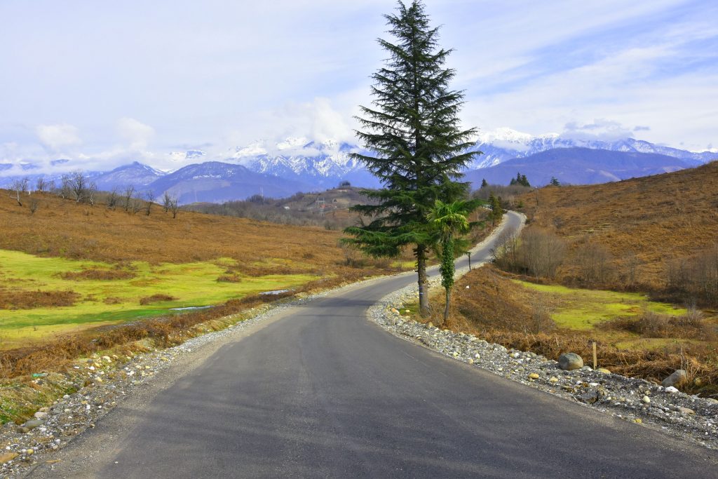
MULTIPOLYGON (((610 252, 615 277, 604 287, 627 287, 634 261, 630 287, 661 290, 667 261, 704 251, 718 238, 718 162, 604 185, 545 187, 521 199, 531 224, 556 231, 572 254, 589 241, 610 252)), ((559 276, 579 281, 577 261, 564 263, 559 276)))

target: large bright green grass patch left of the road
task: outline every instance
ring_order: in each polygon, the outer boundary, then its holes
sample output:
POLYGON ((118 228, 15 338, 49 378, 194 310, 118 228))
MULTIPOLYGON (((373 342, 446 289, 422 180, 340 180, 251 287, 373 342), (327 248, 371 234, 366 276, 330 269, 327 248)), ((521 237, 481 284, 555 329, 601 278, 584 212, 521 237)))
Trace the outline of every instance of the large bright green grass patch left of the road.
POLYGON ((0 348, 26 345, 87 327, 175 313, 172 308, 200 307, 248 294, 291 289, 315 278, 308 274, 240 275, 239 282, 218 282, 218 277, 234 264, 232 259, 157 265, 134 262, 121 266, 121 271, 134 275, 130 279, 63 279, 62 274, 87 269, 116 271, 116 266, 0 250, 0 289, 72 290, 79 294, 73 306, 0 309, 0 348), (142 298, 155 294, 176 299, 140 304, 142 298))

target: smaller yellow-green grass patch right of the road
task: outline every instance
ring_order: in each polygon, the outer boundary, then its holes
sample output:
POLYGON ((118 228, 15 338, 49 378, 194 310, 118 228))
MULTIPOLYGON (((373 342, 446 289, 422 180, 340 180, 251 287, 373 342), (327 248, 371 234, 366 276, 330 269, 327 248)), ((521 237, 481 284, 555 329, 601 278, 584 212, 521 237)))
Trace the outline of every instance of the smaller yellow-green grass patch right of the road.
POLYGON ((513 280, 522 287, 549 295, 556 302, 551 319, 559 327, 574 330, 590 330, 600 322, 617 317, 637 316, 645 312, 666 315, 684 315, 686 310, 673 304, 653 302, 644 294, 577 289, 564 286, 534 284, 513 280))

